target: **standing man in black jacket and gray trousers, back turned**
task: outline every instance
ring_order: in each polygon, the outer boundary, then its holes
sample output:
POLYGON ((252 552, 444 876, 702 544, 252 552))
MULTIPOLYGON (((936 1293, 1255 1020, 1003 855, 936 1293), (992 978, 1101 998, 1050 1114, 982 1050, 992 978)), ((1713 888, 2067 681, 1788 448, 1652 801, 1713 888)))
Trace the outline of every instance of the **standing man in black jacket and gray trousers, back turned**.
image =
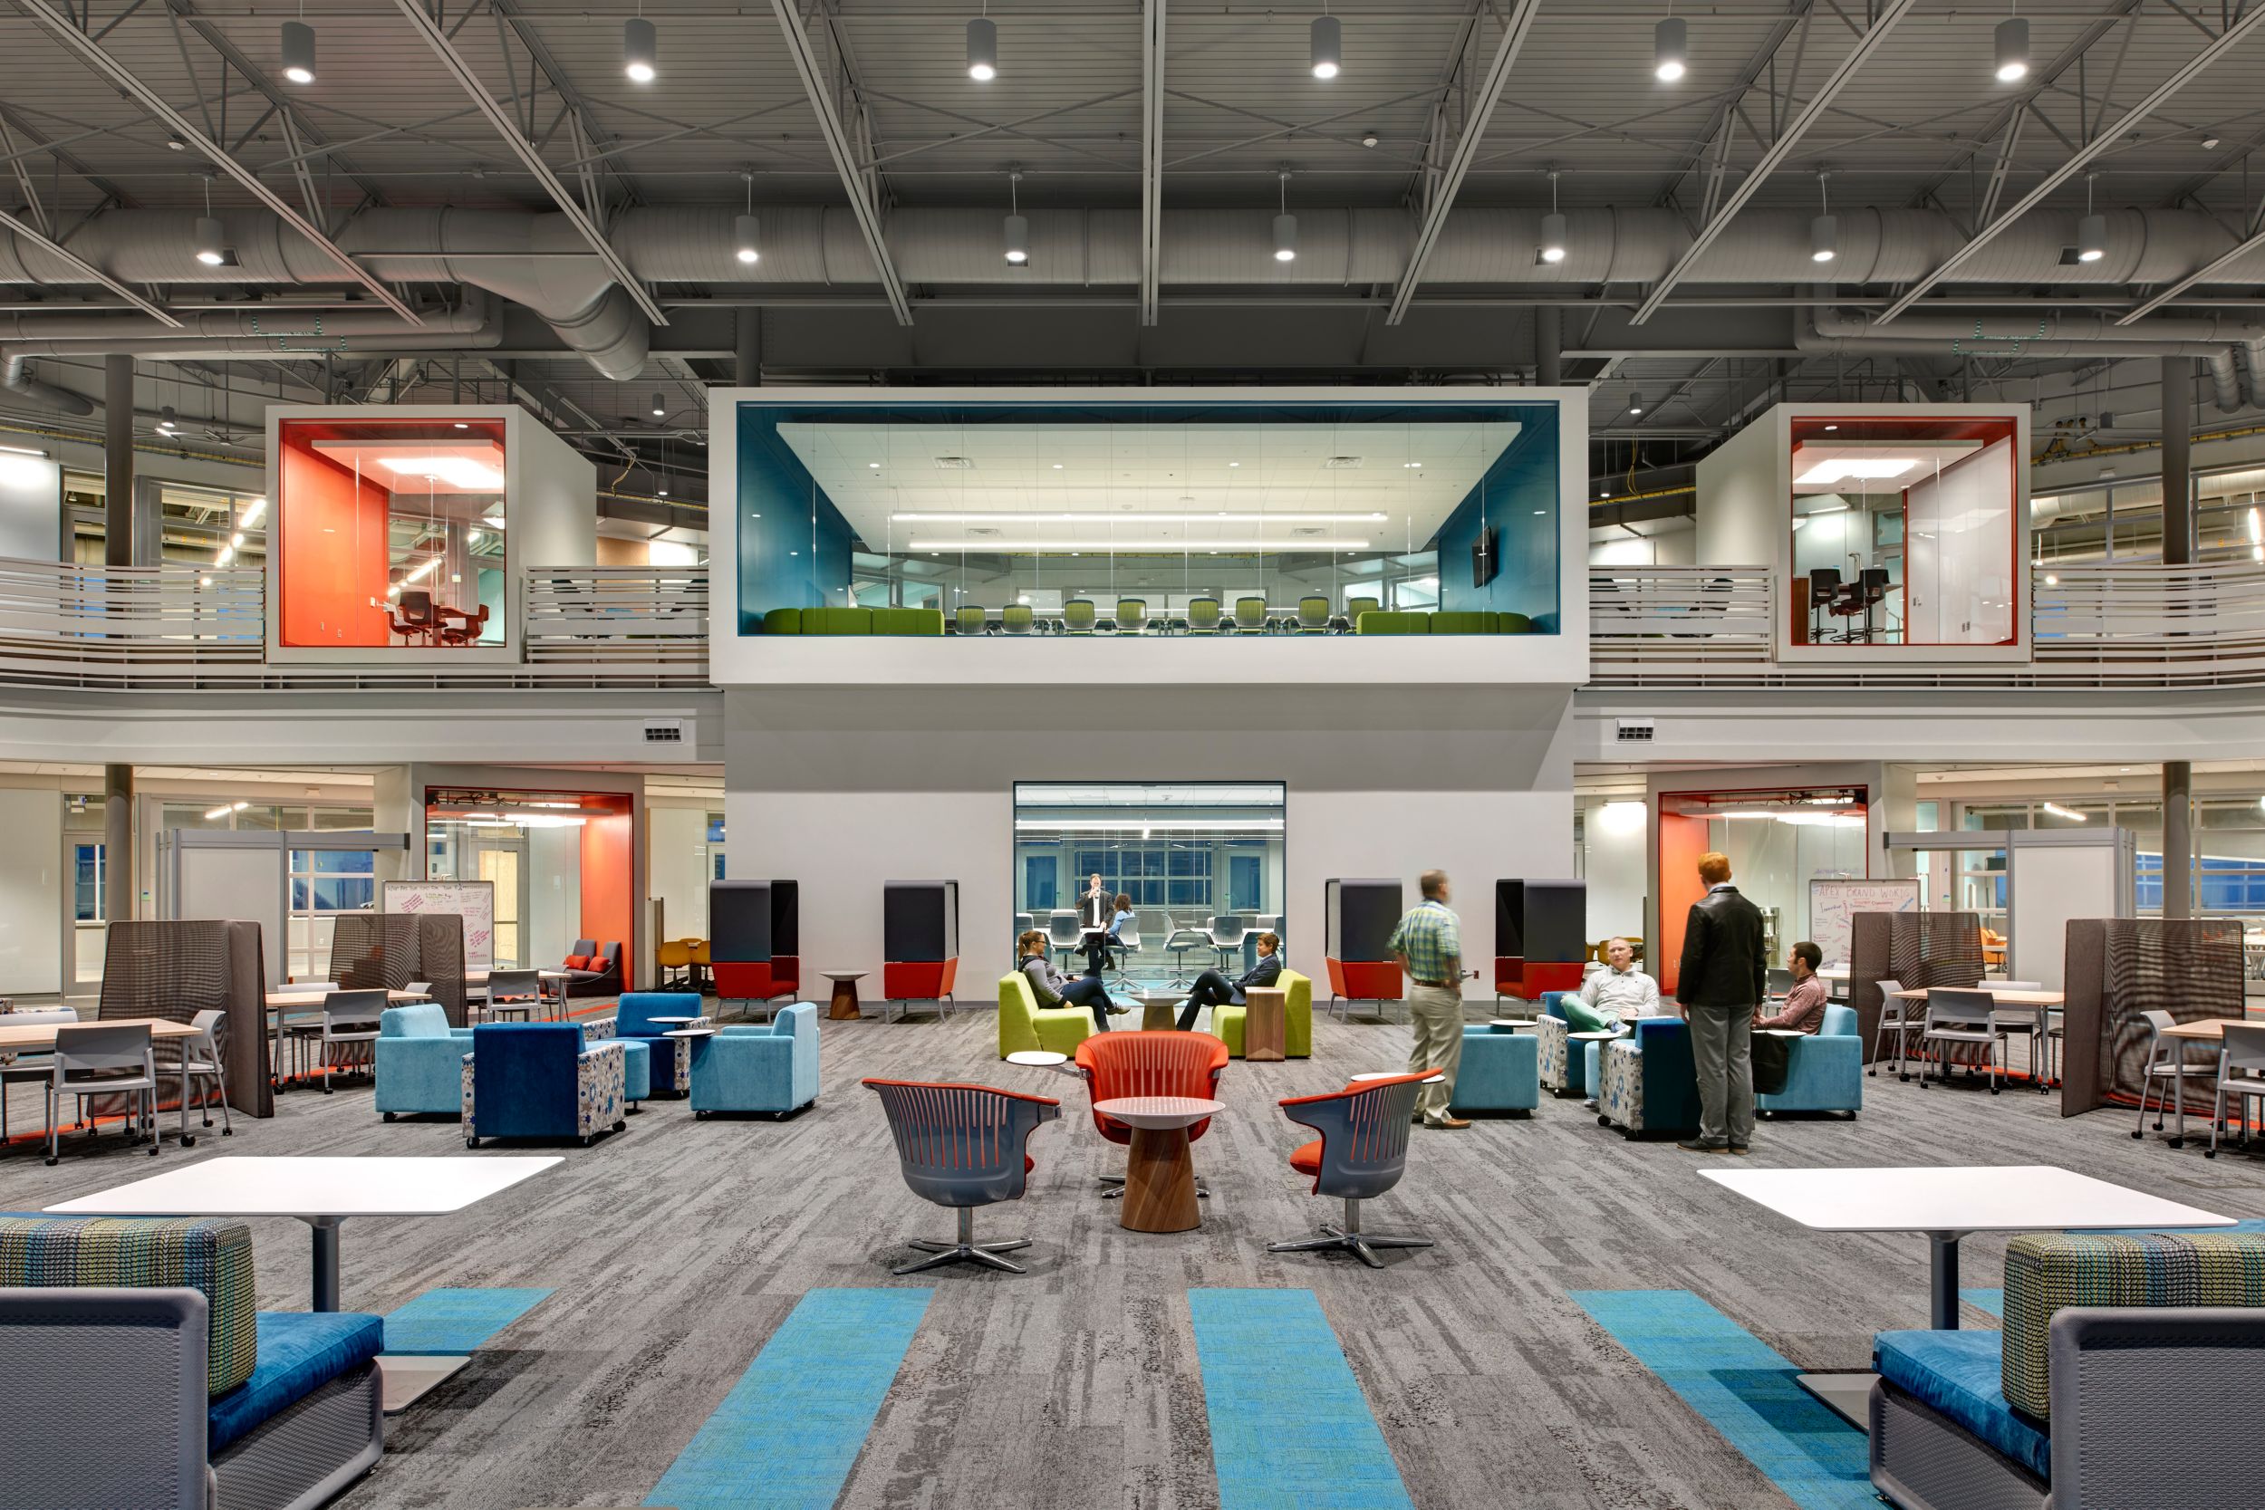
POLYGON ((1753 1007, 1769 983, 1762 910, 1730 885, 1728 856, 1699 856, 1699 878, 1708 894, 1683 924, 1676 969, 1699 1069, 1699 1136, 1678 1148, 1742 1155, 1753 1141, 1753 1007))

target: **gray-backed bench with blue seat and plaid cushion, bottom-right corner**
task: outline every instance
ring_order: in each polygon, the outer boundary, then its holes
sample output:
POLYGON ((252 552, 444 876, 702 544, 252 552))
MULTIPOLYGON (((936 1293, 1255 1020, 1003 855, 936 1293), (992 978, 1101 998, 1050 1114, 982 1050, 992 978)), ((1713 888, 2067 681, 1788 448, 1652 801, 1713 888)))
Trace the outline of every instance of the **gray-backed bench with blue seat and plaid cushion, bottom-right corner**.
POLYGON ((2256 1505, 2265 1236, 2025 1234, 2005 1331, 1873 1338, 1871 1483, 1905 1510, 2256 1505))

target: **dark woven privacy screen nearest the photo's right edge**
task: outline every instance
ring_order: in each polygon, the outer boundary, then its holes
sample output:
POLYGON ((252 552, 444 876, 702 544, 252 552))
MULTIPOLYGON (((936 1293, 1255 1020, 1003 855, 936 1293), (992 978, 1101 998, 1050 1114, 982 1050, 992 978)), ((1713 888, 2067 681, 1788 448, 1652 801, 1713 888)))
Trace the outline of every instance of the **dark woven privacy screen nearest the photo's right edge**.
MULTIPOLYGON (((2242 1014, 2236 919, 2079 917, 2068 924, 2066 949, 2061 1116, 2138 1100, 2147 1066, 2140 1012, 2170 1012, 2181 1023, 2242 1014)), ((2211 1105, 2206 1087, 2188 1087, 2188 1112, 2211 1105)))

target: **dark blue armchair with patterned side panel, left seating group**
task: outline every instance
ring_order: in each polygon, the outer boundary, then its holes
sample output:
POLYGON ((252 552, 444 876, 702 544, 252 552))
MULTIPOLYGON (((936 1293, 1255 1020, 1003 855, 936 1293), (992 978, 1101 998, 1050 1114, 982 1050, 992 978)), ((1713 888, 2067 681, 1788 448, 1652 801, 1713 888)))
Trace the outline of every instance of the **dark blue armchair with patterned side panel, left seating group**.
MULTIPOLYGON (((682 1041, 682 1039, 670 1039, 682 1041)), ((621 1132, 627 1050, 582 1046, 575 1023, 480 1023, 464 1064, 464 1148, 480 1139, 582 1139, 621 1132)))

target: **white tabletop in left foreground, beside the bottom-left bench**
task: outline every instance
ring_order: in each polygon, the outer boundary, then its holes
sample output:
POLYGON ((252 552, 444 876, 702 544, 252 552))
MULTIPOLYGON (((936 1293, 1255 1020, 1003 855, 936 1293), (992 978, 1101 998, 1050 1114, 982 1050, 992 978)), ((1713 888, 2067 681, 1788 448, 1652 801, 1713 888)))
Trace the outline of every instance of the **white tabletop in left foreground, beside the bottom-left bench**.
POLYGON ((59 1216, 446 1216, 564 1164, 559 1155, 444 1159, 204 1159, 79 1195, 59 1216))

